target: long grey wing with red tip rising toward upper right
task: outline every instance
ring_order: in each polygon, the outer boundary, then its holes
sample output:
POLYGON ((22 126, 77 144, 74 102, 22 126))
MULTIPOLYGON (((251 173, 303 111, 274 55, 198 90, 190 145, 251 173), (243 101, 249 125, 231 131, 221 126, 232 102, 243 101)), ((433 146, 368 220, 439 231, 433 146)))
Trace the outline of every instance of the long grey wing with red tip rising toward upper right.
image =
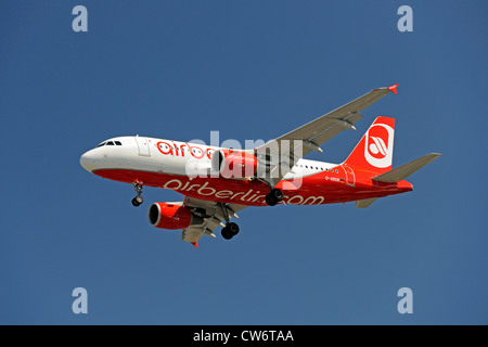
POLYGON ((269 178, 265 178, 265 180, 271 187, 274 187, 291 171, 296 160, 311 151, 323 152, 320 145, 343 130, 356 130, 354 124, 362 118, 359 112, 372 105, 390 91, 397 93, 397 86, 374 89, 348 104, 255 149, 258 160, 266 163, 268 166, 267 174, 269 178), (273 160, 273 155, 270 155, 270 153, 277 154, 277 152, 279 154, 274 156, 273 160), (275 159, 277 157, 278 159, 275 159))

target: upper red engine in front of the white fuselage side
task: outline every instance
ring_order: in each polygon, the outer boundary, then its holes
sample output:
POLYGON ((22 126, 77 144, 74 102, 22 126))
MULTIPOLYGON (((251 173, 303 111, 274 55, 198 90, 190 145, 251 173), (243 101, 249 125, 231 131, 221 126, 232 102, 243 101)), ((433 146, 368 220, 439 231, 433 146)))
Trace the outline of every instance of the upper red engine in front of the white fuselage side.
POLYGON ((211 170, 220 172, 224 178, 243 179, 254 177, 258 169, 258 160, 254 154, 219 150, 211 155, 211 170))

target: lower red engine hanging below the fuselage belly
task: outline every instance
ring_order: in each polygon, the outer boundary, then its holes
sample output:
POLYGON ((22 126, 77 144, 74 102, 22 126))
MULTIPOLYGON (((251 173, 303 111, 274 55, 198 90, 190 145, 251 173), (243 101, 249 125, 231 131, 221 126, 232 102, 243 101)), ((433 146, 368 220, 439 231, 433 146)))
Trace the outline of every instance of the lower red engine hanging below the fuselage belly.
POLYGON ((192 213, 184 206, 154 203, 149 209, 151 224, 160 229, 184 229, 192 222, 192 213))

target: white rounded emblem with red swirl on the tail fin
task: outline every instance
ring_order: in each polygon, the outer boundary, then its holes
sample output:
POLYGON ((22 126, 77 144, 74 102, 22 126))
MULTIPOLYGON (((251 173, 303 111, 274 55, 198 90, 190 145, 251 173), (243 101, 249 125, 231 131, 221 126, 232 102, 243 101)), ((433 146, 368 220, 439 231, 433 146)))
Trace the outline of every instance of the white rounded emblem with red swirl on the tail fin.
POLYGON ((377 168, 391 166, 395 130, 386 124, 374 124, 368 130, 364 158, 377 168))

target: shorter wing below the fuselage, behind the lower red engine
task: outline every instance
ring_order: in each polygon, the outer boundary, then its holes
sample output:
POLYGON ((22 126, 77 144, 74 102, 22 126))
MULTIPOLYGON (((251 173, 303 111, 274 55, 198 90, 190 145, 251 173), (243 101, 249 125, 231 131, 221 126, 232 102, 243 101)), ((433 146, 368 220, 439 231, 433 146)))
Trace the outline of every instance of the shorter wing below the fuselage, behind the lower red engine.
POLYGON ((235 213, 248 206, 237 204, 221 204, 185 196, 183 206, 192 210, 194 216, 202 218, 203 222, 192 224, 181 231, 181 241, 187 241, 198 247, 203 235, 215 237, 217 227, 223 227, 226 219, 239 218, 235 213), (226 216, 227 215, 227 216, 226 216))

